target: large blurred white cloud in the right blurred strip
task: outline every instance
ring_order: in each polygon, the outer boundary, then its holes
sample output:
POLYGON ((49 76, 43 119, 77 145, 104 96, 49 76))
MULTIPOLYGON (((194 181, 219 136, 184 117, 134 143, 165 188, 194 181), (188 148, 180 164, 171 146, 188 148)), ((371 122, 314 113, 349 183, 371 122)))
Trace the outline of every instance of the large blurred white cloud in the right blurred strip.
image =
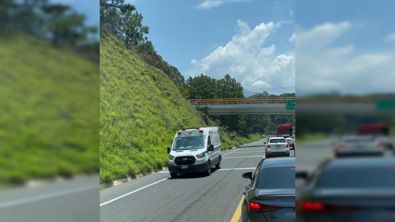
POLYGON ((351 94, 394 91, 394 52, 356 53, 353 39, 344 45, 331 46, 339 37, 344 41, 347 32, 358 27, 361 26, 342 22, 304 30, 297 25, 298 95, 334 90, 351 94))

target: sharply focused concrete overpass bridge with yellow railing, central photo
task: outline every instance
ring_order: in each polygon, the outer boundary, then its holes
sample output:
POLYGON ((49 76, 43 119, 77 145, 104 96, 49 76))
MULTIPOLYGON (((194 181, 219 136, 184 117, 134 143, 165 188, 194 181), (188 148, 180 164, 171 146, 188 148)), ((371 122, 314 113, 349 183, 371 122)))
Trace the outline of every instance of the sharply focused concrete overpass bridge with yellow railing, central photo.
POLYGON ((294 97, 240 98, 240 99, 200 99, 190 100, 194 108, 207 106, 208 115, 232 114, 294 114, 286 109, 286 101, 294 97))

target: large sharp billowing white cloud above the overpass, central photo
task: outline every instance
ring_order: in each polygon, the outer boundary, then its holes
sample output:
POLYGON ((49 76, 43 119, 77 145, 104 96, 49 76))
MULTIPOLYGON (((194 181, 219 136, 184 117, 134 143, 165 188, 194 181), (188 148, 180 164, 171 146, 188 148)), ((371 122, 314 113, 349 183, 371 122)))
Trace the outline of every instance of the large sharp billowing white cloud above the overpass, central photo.
POLYGON ((219 46, 206 57, 192 60, 187 73, 201 73, 221 79, 226 74, 236 78, 244 89, 271 93, 294 92, 295 52, 276 53, 276 45, 267 45, 266 39, 286 22, 261 23, 251 29, 237 21, 237 33, 224 46, 219 46))

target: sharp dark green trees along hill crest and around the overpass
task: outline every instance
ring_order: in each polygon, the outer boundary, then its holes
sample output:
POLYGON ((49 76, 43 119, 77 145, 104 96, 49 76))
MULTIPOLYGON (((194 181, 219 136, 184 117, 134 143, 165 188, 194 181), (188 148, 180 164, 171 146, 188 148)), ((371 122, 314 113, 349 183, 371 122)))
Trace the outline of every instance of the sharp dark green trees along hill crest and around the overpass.
MULTIPOLYGON (((243 87, 229 74, 222 79, 214 79, 204 74, 185 79, 176 67, 168 64, 157 53, 147 37, 150 29, 144 26, 142 21, 142 14, 125 0, 100 0, 100 29, 111 32, 122 40, 127 48, 139 54, 147 64, 166 74, 186 99, 244 98, 243 87)), ((263 92, 252 97, 292 96, 294 97, 295 93, 273 95, 263 92)), ((273 134, 278 124, 294 124, 294 115, 220 115, 212 116, 212 120, 228 131, 243 135, 273 134)))

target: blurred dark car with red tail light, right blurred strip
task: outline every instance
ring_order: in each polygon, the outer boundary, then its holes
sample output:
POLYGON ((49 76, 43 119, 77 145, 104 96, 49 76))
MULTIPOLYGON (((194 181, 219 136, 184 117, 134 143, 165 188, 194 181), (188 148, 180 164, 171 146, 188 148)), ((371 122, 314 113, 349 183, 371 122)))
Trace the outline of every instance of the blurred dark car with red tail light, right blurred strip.
POLYGON ((321 164, 298 188, 301 222, 394 222, 395 158, 332 159, 321 164))

